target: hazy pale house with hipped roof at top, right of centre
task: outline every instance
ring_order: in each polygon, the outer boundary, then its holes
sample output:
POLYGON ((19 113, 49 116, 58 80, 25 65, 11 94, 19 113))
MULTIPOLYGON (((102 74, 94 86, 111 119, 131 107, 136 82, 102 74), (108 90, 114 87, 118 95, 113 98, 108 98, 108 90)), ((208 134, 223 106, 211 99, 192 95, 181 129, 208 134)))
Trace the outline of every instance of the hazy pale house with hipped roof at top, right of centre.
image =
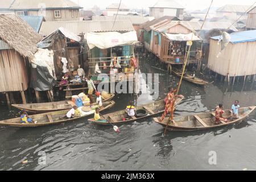
POLYGON ((161 18, 162 16, 176 16, 183 18, 184 7, 176 1, 158 1, 154 6, 150 7, 150 16, 161 18))

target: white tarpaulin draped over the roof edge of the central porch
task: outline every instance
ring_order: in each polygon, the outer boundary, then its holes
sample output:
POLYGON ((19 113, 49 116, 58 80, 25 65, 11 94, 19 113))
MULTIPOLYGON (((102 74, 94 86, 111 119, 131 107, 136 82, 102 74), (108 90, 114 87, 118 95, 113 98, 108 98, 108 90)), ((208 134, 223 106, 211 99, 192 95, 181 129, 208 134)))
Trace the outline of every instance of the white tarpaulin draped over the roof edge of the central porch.
POLYGON ((118 32, 88 33, 86 42, 89 49, 98 47, 107 49, 115 46, 131 45, 138 42, 136 31, 120 34, 118 32))

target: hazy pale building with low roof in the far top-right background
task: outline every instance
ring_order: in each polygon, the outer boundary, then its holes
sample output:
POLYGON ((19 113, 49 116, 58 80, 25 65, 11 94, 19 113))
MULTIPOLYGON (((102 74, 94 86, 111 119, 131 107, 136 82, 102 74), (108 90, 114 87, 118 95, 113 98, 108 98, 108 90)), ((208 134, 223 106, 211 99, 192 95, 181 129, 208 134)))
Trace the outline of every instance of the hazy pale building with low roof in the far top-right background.
POLYGON ((245 14, 249 8, 250 6, 245 5, 225 5, 217 9, 216 12, 219 17, 226 16, 229 19, 236 19, 238 16, 245 14))

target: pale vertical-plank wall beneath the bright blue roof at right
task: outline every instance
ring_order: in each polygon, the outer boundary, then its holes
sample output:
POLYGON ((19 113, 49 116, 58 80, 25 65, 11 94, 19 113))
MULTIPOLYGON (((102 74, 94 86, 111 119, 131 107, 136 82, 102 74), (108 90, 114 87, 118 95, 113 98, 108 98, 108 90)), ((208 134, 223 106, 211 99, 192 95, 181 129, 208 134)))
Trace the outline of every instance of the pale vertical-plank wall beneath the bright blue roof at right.
POLYGON ((210 39, 208 68, 220 75, 245 76, 256 75, 256 42, 229 45, 220 52, 218 40, 210 39))

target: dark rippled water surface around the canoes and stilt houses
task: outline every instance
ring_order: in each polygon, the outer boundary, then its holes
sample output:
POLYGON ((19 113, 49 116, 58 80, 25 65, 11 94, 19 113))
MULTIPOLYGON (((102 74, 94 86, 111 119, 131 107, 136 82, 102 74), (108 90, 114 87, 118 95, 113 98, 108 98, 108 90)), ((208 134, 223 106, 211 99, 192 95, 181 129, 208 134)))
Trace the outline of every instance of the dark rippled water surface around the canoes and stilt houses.
MULTIPOLYGON (((155 66, 155 64, 154 64, 155 66)), ((179 79, 152 68, 141 61, 142 73, 159 73, 159 98, 168 86, 179 79)), ((256 91, 250 85, 233 92, 215 81, 202 88, 183 82, 180 94, 185 99, 176 107, 176 114, 187 115, 210 111, 218 103, 230 107, 234 100, 241 106, 256 105, 256 91)), ((152 102, 150 91, 142 94, 137 104, 152 102)), ((126 107, 130 95, 119 94, 110 110, 126 107)), ((18 110, 0 104, 2 119, 15 117, 18 110)), ((110 112, 106 111, 106 112, 110 112)), ((111 126, 97 126, 86 119, 61 125, 19 129, 0 127, 0 170, 255 170, 256 114, 238 125, 215 130, 168 132, 146 119, 120 126, 114 133, 111 126), (39 152, 46 152, 46 165, 39 165, 39 152), (217 164, 210 165, 209 152, 216 151, 217 164), (24 159, 27 164, 22 164, 24 159)))

